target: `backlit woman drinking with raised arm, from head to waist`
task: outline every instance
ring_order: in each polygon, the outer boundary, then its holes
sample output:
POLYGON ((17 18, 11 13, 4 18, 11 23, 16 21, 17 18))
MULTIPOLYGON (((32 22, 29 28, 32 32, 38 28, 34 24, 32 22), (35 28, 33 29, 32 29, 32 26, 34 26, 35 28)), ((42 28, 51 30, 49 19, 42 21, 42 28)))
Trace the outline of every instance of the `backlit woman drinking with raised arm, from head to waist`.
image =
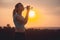
POLYGON ((25 31, 24 25, 28 21, 30 6, 27 6, 26 9, 27 9, 27 14, 25 18, 22 16, 22 12, 24 10, 24 6, 22 5, 22 3, 17 3, 15 5, 15 9, 13 10, 13 21, 16 26, 17 32, 25 31))

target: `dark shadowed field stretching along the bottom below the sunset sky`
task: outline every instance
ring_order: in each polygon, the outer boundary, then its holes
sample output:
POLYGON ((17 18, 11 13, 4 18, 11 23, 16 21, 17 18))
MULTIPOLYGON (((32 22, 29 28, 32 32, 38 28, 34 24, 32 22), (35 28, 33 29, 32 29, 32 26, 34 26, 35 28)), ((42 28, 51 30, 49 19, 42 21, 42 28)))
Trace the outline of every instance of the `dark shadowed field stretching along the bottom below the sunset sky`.
POLYGON ((60 40, 60 29, 26 29, 24 33, 15 28, 0 27, 0 40, 60 40))

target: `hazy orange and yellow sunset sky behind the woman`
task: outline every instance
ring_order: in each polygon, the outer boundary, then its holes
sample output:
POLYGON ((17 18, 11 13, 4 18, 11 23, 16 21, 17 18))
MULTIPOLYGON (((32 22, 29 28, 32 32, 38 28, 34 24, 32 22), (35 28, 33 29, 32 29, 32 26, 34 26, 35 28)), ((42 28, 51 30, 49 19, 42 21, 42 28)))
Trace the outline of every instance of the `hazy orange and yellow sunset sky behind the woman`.
POLYGON ((30 5, 36 14, 29 18, 26 28, 60 27, 60 0, 0 0, 0 26, 14 26, 12 12, 18 2, 24 7, 30 5))

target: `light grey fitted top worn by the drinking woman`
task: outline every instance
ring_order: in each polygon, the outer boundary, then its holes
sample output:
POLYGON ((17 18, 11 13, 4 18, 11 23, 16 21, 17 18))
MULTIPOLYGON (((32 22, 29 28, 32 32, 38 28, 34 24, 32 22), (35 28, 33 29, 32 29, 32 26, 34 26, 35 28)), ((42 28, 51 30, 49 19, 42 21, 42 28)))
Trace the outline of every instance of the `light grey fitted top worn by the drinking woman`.
POLYGON ((25 28, 24 28, 24 24, 21 24, 21 23, 16 19, 17 16, 20 17, 22 20, 24 20, 23 16, 20 16, 20 15, 18 15, 17 13, 15 13, 15 15, 13 16, 14 24, 15 24, 16 28, 20 28, 20 29, 24 30, 24 29, 25 29, 25 28))

